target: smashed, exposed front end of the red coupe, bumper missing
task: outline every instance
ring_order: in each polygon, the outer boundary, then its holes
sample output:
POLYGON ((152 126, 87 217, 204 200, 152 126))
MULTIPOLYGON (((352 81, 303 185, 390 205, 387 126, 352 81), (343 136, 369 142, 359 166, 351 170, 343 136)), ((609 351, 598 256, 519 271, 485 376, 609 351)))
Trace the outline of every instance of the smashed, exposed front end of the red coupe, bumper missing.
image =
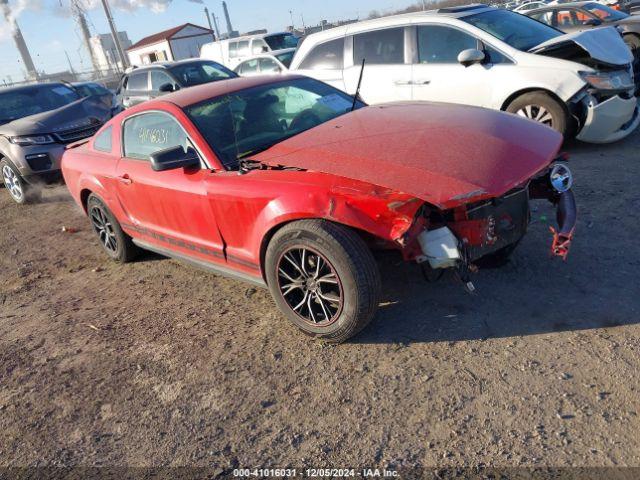
MULTIPOLYGON (((465 283, 480 259, 510 253, 526 234, 532 199, 546 199, 556 206, 557 227, 551 254, 567 259, 577 219, 573 176, 558 158, 549 167, 504 195, 441 211, 425 206, 407 243, 407 253, 428 271, 455 269, 465 283), (416 230, 420 229, 419 232, 416 230)), ((406 237, 405 235, 405 237, 406 237)), ((407 256, 407 255, 405 255, 407 256)))

